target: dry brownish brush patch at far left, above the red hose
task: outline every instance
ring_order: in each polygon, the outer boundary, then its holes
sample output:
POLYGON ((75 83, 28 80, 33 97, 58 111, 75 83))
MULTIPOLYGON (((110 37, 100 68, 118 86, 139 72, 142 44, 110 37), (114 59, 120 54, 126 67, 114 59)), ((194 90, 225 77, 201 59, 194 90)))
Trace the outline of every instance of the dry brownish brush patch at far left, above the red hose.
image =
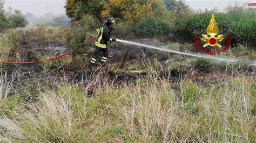
MULTIPOLYGON (((1 35, 1 61, 31 61, 38 52, 45 54, 45 47, 52 42, 70 45, 71 28, 9 29, 1 35), (38 51, 39 50, 39 51, 38 51)), ((53 54, 53 53, 52 53, 53 54)))

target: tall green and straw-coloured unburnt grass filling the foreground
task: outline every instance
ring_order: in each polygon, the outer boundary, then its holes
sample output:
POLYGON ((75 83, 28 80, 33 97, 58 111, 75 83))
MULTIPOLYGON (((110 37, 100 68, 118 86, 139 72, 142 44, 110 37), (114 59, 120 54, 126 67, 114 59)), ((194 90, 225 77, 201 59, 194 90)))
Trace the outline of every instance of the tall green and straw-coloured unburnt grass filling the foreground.
POLYGON ((170 82, 150 61, 144 65, 146 78, 133 82, 113 80, 103 69, 78 83, 67 75, 36 81, 36 102, 1 101, 2 140, 256 141, 253 75, 224 73, 205 86, 183 76, 170 82))

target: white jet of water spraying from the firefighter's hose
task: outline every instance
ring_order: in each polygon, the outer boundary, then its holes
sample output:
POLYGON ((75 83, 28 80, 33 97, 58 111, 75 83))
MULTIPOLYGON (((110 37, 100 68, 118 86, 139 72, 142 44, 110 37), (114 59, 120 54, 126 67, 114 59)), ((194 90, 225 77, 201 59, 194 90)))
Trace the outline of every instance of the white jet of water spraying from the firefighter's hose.
MULTIPOLYGON (((137 45, 137 46, 147 47, 147 48, 151 48, 151 49, 158 49, 158 50, 161 50, 161 51, 166 51, 166 52, 171 52, 171 53, 176 53, 176 54, 195 56, 195 57, 198 57, 198 58, 214 59, 214 60, 225 61, 225 62, 248 62, 248 61, 240 60, 240 59, 225 59, 225 58, 217 58, 217 57, 213 57, 213 56, 207 56, 207 55, 203 55, 203 54, 194 54, 194 53, 190 53, 190 52, 186 52, 186 53, 185 52, 179 52, 179 51, 174 51, 174 50, 171 50, 171 49, 159 48, 159 47, 139 44, 137 42, 120 40, 120 39, 117 39, 117 41, 124 42, 124 43, 127 43, 127 44, 133 44, 133 45, 137 45)), ((256 66, 256 63, 250 63, 250 62, 248 62, 248 63, 250 65, 256 66)))

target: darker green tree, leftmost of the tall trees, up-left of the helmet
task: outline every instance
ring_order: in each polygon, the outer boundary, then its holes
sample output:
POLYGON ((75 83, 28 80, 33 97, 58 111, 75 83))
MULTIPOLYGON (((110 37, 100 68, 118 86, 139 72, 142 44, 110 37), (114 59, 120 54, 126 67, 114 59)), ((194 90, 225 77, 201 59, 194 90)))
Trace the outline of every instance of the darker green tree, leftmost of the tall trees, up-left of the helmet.
POLYGON ((100 12, 106 2, 107 0, 66 0, 66 15, 73 21, 79 21, 84 15, 93 15, 101 21, 100 12))

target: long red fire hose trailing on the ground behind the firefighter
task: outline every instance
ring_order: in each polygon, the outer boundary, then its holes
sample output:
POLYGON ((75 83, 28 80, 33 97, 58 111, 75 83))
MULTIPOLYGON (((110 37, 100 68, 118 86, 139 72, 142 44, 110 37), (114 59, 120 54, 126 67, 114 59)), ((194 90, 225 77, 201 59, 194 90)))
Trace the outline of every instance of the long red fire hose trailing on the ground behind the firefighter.
MULTIPOLYGON (((89 42, 95 40, 96 38, 97 38, 97 37, 94 37, 94 38, 92 38, 92 39, 90 39, 90 40, 85 41, 85 42, 83 43, 83 45, 88 44, 89 42)), ((49 59, 49 60, 45 60, 45 61, 56 60, 56 59, 58 59, 58 58, 62 58, 62 56, 68 55, 68 54, 70 54, 70 53, 71 53, 71 51, 66 52, 66 53, 63 53, 63 54, 61 54, 61 55, 59 55, 59 56, 53 57, 53 58, 51 58, 51 59, 49 59)), ((16 64, 16 65, 18 65, 18 64, 40 63, 40 62, 45 62, 45 61, 28 61, 28 62, 3 62, 3 61, 0 61, 0 64, 16 64)))

